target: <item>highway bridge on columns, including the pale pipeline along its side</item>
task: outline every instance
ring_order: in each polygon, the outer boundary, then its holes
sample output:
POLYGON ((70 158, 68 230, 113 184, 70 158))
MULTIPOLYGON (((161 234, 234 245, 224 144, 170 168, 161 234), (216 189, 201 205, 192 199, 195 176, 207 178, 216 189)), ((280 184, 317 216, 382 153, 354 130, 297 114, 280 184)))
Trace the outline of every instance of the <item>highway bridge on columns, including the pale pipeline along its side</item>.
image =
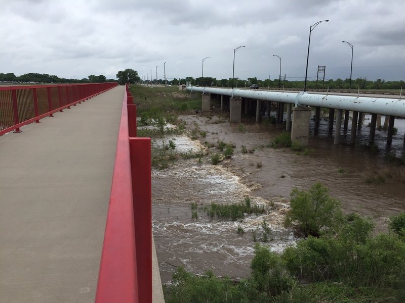
MULTIPOLYGON (((392 143, 392 135, 395 117, 405 117, 405 99, 401 96, 390 98, 368 95, 308 93, 295 91, 268 91, 250 89, 227 89, 216 87, 187 86, 191 94, 202 92, 202 109, 210 111, 211 98, 221 99, 221 111, 224 102, 228 103, 230 122, 240 123, 242 108, 245 113, 252 104, 256 104, 256 121, 260 119, 262 102, 267 102, 267 115, 270 115, 270 103, 277 104, 277 122, 282 122, 287 104, 286 130, 291 130, 291 139, 297 140, 303 145, 308 145, 309 121, 311 118, 311 108, 315 108, 315 132, 317 132, 320 120, 320 108, 329 109, 329 129, 332 130, 336 114, 334 143, 340 143, 341 124, 344 115, 343 129, 348 128, 350 111, 352 112, 351 143, 355 143, 357 123, 362 121, 362 115, 369 113, 372 115, 370 125, 369 143, 375 139, 375 130, 379 115, 388 116, 387 145, 392 143), (293 107, 294 106, 294 107, 293 107)), ((405 137, 405 136, 404 136, 405 137)))

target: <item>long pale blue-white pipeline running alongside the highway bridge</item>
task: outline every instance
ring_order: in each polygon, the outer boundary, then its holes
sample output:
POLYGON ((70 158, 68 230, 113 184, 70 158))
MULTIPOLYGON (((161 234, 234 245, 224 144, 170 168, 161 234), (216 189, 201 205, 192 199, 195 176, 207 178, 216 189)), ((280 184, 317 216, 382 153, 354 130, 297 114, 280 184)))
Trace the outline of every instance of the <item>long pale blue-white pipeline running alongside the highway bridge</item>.
POLYGON ((233 97, 292 103, 295 106, 325 107, 370 114, 405 117, 405 99, 371 98, 344 95, 314 94, 216 87, 187 86, 190 91, 214 93, 233 97))

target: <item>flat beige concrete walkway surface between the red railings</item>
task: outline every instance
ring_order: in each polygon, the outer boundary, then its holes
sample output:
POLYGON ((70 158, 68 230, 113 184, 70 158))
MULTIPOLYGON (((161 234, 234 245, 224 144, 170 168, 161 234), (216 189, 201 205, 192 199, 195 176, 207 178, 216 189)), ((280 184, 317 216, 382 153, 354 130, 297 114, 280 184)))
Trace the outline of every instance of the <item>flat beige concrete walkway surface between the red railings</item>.
POLYGON ((94 301, 123 98, 0 137, 0 301, 94 301))

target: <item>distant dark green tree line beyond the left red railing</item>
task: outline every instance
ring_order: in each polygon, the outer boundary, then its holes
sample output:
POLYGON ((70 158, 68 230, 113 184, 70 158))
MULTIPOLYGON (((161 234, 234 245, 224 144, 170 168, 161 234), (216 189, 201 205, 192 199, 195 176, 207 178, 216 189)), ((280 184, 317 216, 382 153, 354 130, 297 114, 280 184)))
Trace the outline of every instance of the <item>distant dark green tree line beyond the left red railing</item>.
POLYGON ((83 79, 66 79, 59 78, 56 75, 28 73, 21 76, 16 76, 14 73, 0 73, 0 81, 2 82, 35 82, 35 83, 100 83, 100 82, 115 82, 116 79, 107 79, 104 75, 89 75, 83 79))

